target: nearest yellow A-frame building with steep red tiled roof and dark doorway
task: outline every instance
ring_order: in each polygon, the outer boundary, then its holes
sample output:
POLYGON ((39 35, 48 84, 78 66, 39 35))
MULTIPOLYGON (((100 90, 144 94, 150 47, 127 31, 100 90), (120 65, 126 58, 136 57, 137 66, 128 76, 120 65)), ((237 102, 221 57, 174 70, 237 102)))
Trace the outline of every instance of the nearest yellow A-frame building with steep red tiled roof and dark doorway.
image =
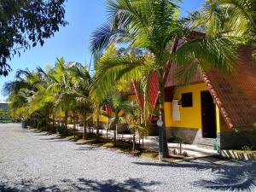
POLYGON ((250 49, 231 74, 211 70, 182 85, 172 67, 166 80, 165 120, 168 136, 205 148, 236 148, 248 143, 247 130, 256 122, 256 67, 250 49))

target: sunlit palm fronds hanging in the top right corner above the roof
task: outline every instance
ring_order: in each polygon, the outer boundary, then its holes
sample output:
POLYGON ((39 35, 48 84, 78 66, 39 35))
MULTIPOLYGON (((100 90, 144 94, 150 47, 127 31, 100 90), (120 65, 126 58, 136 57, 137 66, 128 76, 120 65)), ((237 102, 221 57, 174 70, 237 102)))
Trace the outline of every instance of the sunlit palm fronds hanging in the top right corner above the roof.
POLYGON ((256 61, 256 2, 254 0, 207 1, 195 26, 207 27, 208 36, 236 38, 253 48, 256 61))

